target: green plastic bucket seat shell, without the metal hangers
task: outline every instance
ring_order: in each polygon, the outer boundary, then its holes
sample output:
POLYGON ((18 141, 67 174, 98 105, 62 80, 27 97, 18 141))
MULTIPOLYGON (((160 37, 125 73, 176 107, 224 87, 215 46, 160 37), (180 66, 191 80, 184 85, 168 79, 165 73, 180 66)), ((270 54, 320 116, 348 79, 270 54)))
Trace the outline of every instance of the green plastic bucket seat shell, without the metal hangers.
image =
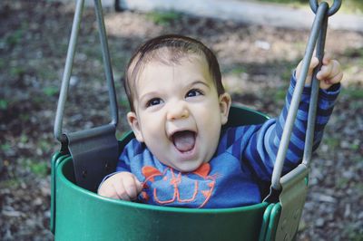
MULTIPOLYGON (((230 120, 228 125, 234 126, 261 123, 267 117, 234 106, 230 120)), ((131 133, 120 140, 120 146, 130 138, 131 133)), ((259 240, 269 206, 263 202, 249 207, 194 209, 103 198, 75 184, 72 158, 59 152, 52 159, 52 181, 56 240, 259 240)))

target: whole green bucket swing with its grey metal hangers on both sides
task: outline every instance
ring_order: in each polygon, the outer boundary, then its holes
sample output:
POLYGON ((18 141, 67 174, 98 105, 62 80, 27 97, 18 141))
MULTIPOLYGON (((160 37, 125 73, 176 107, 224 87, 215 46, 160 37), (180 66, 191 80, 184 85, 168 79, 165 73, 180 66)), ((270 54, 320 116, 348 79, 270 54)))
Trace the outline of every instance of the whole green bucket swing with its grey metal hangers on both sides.
MULTIPOLYGON (((102 178, 113 172, 119 153, 133 136, 129 133, 122 140, 115 138, 118 111, 100 0, 94 0, 94 8, 112 120, 109 124, 89 130, 65 134, 62 131, 83 2, 78 0, 75 8, 54 124, 54 135, 62 144, 60 151, 52 158, 51 230, 55 240, 292 240, 298 231, 308 191, 307 178, 319 90, 319 82, 315 78, 302 163, 282 178, 281 170, 313 51, 316 48, 321 60, 329 15, 338 11, 341 0, 335 0, 330 8, 325 2, 318 4, 317 0, 310 0, 316 17, 302 63, 302 74, 296 84, 281 137, 270 195, 260 204, 216 209, 158 207, 103 198, 95 193, 102 178)), ((267 119, 258 111, 234 105, 227 126, 257 124, 267 119)))

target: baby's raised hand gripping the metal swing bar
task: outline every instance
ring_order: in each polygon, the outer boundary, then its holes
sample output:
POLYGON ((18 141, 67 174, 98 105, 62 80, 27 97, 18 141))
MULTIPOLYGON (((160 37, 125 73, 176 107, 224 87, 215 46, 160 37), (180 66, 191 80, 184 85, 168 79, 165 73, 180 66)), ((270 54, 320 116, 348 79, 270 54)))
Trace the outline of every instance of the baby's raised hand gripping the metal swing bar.
MULTIPOLYGON (((309 72, 306 79, 306 84, 309 85, 311 83, 312 72, 316 66, 318 66, 319 60, 317 57, 313 57, 310 62, 309 72)), ((299 63, 296 68, 296 78, 299 79, 299 75, 301 72, 302 62, 299 63)), ((317 79, 320 81, 319 87, 323 90, 329 89, 335 83, 341 82, 343 79, 343 72, 340 68, 340 63, 336 60, 331 60, 330 57, 324 56, 323 65, 321 66, 320 71, 317 73, 317 79)))

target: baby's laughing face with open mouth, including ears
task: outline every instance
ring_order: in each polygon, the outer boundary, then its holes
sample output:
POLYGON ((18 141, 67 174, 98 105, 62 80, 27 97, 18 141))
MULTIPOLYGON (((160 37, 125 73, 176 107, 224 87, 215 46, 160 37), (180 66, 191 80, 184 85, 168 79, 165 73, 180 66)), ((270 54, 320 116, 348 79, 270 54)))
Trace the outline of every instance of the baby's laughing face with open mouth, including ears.
POLYGON ((134 112, 127 117, 136 136, 163 164, 188 172, 211 160, 231 97, 218 96, 199 55, 166 65, 147 63, 135 82, 134 112))

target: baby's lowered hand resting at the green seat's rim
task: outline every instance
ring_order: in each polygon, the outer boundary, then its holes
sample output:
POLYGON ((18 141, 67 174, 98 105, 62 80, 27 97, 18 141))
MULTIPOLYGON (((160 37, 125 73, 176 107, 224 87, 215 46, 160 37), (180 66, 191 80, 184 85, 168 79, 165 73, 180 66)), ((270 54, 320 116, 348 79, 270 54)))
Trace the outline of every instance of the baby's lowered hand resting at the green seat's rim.
POLYGON ((135 200, 142 192, 142 183, 130 172, 119 172, 107 178, 98 189, 98 194, 125 201, 135 200))

